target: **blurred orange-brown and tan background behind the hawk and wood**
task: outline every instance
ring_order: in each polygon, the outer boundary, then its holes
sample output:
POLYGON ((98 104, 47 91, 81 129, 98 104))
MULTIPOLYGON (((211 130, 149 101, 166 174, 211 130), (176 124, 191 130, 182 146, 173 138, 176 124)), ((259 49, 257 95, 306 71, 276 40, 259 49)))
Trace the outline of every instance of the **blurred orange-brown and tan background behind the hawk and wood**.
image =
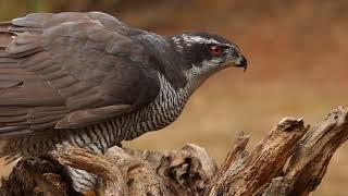
MULTIPOLYGON (((248 58, 246 73, 229 69, 214 75, 175 123, 124 143, 128 147, 177 149, 195 143, 220 163, 240 131, 251 136, 252 148, 284 117, 312 124, 348 106, 346 0, 0 0, 1 21, 62 11, 102 11, 162 35, 216 33, 248 58)), ((312 195, 347 195, 347 171, 345 145, 312 195)))

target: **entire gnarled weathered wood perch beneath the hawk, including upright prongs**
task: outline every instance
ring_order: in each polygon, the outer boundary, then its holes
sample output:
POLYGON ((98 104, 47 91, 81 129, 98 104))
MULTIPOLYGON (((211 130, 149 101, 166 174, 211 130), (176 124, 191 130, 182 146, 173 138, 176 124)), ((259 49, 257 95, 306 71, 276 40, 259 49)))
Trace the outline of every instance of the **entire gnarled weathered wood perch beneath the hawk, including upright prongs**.
POLYGON ((65 166, 102 176, 103 195, 309 195, 347 138, 348 110, 339 107, 312 127, 285 118, 250 151, 240 133, 219 170, 194 144, 173 151, 113 147, 103 156, 64 146, 23 158, 0 195, 76 195, 65 166))

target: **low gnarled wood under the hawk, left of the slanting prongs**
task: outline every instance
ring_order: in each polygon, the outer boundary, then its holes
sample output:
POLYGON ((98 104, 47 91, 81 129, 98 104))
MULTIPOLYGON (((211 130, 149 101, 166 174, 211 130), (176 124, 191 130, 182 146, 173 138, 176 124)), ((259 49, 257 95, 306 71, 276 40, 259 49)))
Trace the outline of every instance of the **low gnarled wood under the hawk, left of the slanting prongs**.
MULTIPOLYGON (((217 171, 207 151, 192 144, 174 151, 113 147, 104 156, 64 146, 54 157, 64 166, 102 176, 99 192, 104 195, 199 195, 217 171)), ((21 160, 3 181, 0 195, 78 195, 59 162, 46 157, 21 160)))

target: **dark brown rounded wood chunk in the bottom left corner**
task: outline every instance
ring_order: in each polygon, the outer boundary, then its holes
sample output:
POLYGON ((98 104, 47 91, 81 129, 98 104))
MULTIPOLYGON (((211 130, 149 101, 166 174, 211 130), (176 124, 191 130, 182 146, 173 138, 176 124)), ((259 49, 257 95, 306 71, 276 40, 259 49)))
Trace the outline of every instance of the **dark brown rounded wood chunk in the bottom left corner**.
POLYGON ((0 195, 78 195, 71 186, 65 167, 50 157, 25 157, 8 180, 2 180, 0 195))

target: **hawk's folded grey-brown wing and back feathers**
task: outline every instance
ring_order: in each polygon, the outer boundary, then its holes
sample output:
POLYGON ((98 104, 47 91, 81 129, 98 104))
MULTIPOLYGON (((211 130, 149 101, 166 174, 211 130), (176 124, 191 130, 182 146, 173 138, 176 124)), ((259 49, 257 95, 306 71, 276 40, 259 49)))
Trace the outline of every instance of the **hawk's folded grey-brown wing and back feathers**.
POLYGON ((98 12, 0 23, 0 138, 83 127, 153 100, 157 71, 129 29, 98 12))

